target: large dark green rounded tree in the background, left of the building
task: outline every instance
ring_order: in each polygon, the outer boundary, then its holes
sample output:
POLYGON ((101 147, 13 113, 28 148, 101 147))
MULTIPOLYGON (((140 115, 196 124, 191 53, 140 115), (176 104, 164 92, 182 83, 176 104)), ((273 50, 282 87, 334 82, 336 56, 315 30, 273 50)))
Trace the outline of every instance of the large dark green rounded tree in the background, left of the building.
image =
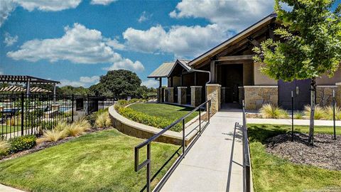
POLYGON ((90 87, 90 91, 94 95, 136 97, 140 85, 140 78, 130 70, 109 70, 107 75, 101 76, 97 85, 90 87))

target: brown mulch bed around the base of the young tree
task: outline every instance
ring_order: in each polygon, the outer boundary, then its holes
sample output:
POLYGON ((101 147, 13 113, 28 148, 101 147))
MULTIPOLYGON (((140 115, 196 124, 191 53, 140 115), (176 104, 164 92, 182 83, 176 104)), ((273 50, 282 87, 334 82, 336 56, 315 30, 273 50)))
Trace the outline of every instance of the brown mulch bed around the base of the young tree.
POLYGON ((331 134, 315 134, 314 146, 308 144, 308 134, 280 134, 266 140, 266 151, 292 161, 324 169, 341 171, 341 136, 332 139, 331 134))

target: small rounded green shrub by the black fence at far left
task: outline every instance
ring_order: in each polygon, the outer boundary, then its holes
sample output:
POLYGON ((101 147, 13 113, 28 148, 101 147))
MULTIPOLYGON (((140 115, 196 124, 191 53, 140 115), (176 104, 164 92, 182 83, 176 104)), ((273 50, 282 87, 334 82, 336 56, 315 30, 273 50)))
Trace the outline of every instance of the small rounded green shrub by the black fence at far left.
POLYGON ((11 154, 17 153, 19 151, 24 151, 27 149, 31 149, 36 145, 36 137, 33 135, 25 135, 21 137, 14 137, 9 139, 9 143, 11 144, 9 148, 9 152, 11 154))

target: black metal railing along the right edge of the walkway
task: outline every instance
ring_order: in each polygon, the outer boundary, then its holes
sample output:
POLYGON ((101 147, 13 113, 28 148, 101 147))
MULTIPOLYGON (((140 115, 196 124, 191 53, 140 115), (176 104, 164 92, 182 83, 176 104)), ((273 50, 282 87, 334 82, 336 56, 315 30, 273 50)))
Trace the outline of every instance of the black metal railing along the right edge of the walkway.
POLYGON ((245 103, 243 100, 243 191, 251 191, 251 161, 250 161, 250 148, 249 137, 247 135, 247 116, 245 113, 245 103))

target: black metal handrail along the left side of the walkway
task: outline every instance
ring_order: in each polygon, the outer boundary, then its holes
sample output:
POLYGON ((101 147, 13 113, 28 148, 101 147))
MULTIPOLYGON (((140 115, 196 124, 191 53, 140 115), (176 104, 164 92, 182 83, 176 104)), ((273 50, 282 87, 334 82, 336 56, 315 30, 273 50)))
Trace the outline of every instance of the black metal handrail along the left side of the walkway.
POLYGON ((208 101, 202 103, 200 106, 196 107, 191 112, 188 112, 188 114, 185 114, 185 116, 181 117, 180 119, 176 120, 172 124, 168 125, 168 127, 166 127, 165 129, 161 130, 161 132, 158 132, 158 134, 153 135, 153 137, 151 137, 151 138, 147 139, 146 141, 142 142, 141 144, 135 146, 135 149, 134 149, 134 155, 135 155, 134 167, 135 167, 135 171, 137 172, 137 171, 141 170, 144 166, 147 167, 147 170, 146 170, 146 191, 148 191, 148 192, 151 191, 151 142, 154 142, 156 139, 158 139, 158 137, 160 137, 162 134, 164 134, 169 129, 174 127, 176 124, 182 123, 183 138, 182 138, 181 148, 183 149, 182 150, 183 152, 182 152, 182 154, 180 154, 178 159, 176 159, 176 161, 173 164, 173 166, 171 166, 171 168, 167 171, 166 175, 163 176, 161 181, 158 183, 158 185, 154 189, 154 191, 160 191, 161 188, 163 187, 163 185, 166 183, 168 178, 171 176, 171 174, 175 170, 175 168, 180 164, 180 161, 188 153, 188 150, 190 150, 190 148, 193 146, 193 144, 195 144, 197 139, 200 137, 201 133, 205 130, 207 125, 210 123, 210 114, 211 114, 210 107, 211 107, 211 100, 208 100, 208 101), (205 105, 207 105, 207 106, 205 106, 205 105), (201 109, 202 109, 202 107, 205 107, 206 110, 207 110, 207 112, 206 112, 206 114, 207 114, 207 123, 205 124, 204 127, 201 126, 201 122, 202 122, 201 121, 202 120, 201 119, 201 109), (197 110, 199 110, 199 130, 197 131, 197 134, 195 134, 195 136, 194 136, 195 138, 193 139, 193 141, 190 142, 190 144, 188 144, 188 146, 186 147, 185 146, 185 118, 189 117, 190 114, 193 114, 197 110), (144 146, 147 147, 146 160, 143 161, 141 164, 139 164, 139 149, 141 149, 144 146))

